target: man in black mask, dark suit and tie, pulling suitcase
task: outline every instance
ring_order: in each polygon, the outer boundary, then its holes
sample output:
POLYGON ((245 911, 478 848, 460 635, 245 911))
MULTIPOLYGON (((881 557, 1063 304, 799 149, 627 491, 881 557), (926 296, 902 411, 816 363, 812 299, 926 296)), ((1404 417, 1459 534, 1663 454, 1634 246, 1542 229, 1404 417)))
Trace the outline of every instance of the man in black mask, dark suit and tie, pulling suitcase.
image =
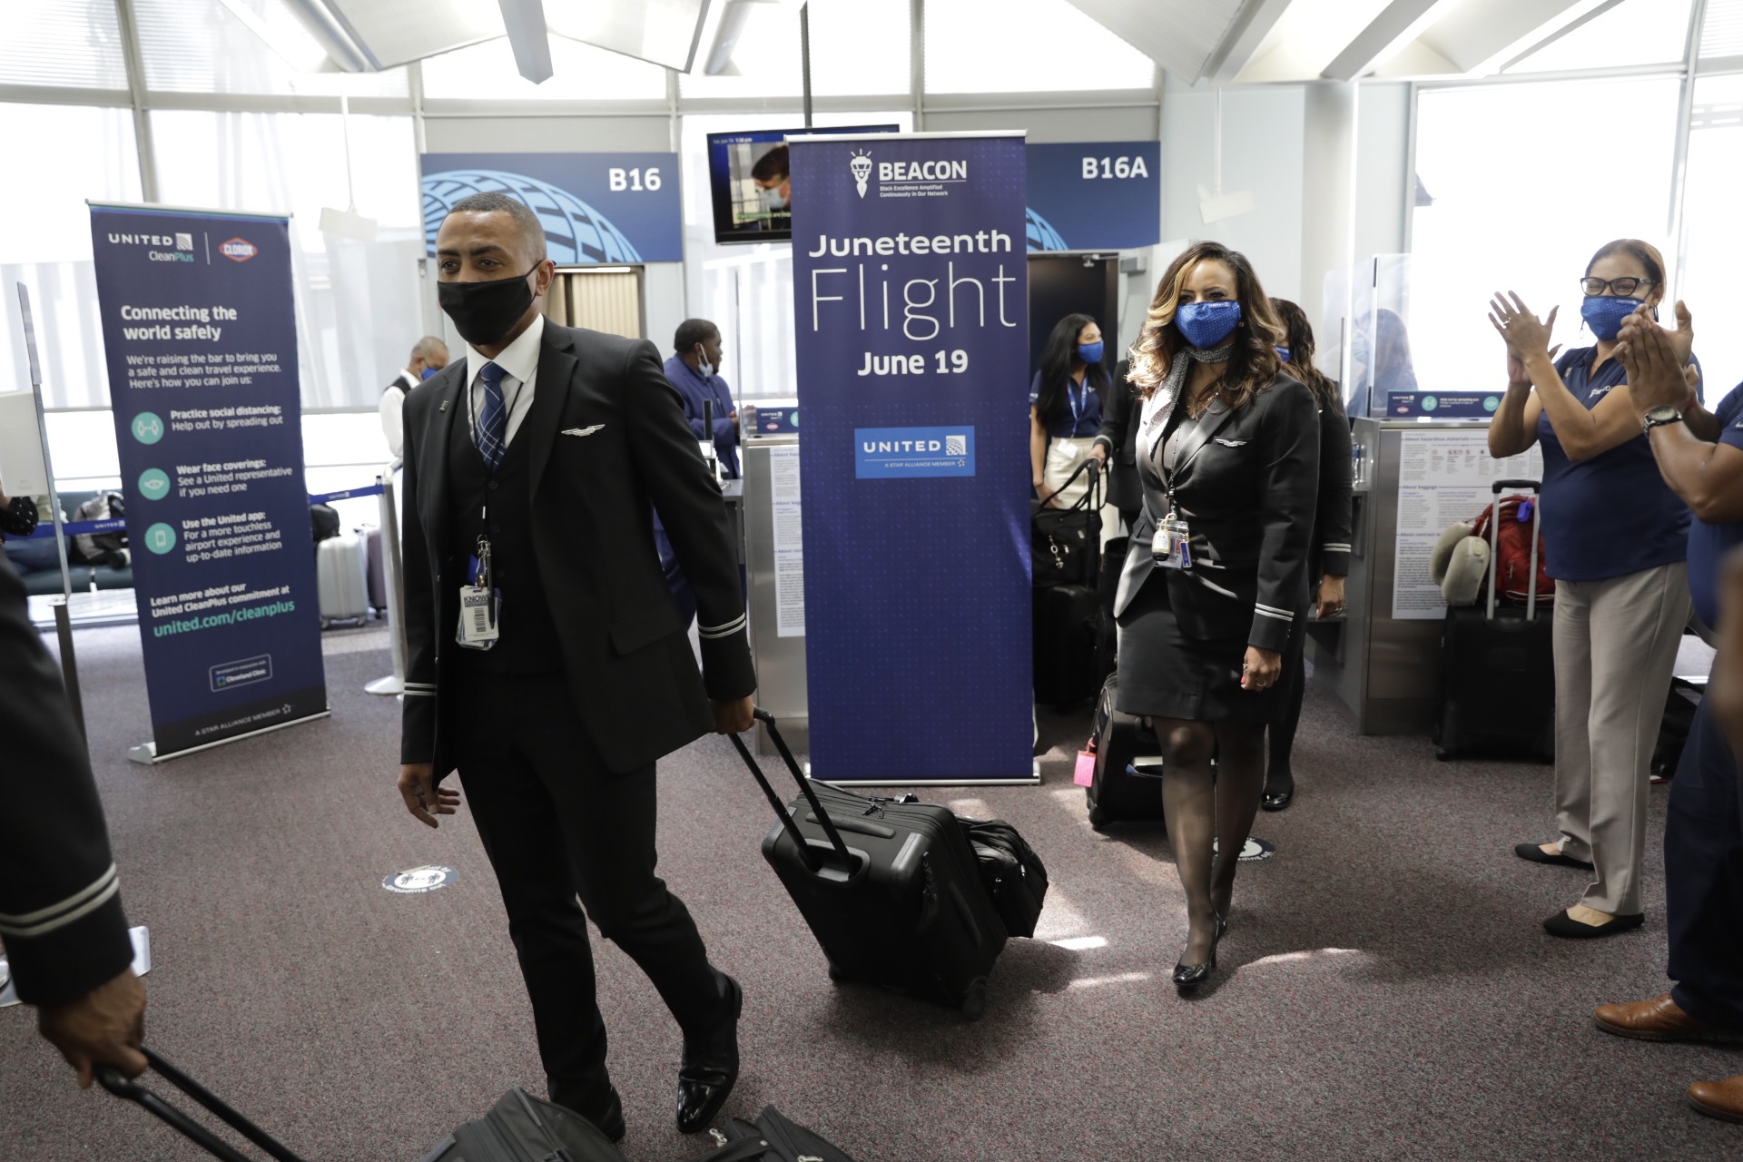
POLYGON ((540 314, 554 267, 530 209, 464 199, 436 263, 467 350, 406 399, 399 791, 436 826, 458 803, 437 784, 457 768, 465 780, 553 1101, 624 1134, 591 918, 683 1030, 678 1129, 695 1132, 737 1080, 741 993, 654 875, 654 761, 751 725, 725 503, 654 345, 540 314), (655 512, 695 594, 702 674, 655 512))

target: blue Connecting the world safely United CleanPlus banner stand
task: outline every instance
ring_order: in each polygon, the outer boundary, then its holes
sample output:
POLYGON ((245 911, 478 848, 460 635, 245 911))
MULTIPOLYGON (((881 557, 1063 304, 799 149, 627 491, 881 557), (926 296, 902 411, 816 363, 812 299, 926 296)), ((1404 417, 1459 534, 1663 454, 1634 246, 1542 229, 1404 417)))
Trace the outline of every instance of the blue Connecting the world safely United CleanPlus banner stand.
POLYGON ((326 714, 284 218, 91 206, 152 761, 326 714))

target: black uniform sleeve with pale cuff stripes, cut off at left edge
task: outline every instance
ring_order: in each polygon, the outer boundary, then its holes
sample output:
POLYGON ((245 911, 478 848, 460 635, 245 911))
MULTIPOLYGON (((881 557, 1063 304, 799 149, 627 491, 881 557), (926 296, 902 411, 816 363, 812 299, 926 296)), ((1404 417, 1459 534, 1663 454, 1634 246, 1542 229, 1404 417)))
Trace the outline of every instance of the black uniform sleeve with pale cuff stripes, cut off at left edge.
POLYGON ((0 554, 0 939, 17 995, 84 996, 132 963, 120 880, 61 671, 0 554))

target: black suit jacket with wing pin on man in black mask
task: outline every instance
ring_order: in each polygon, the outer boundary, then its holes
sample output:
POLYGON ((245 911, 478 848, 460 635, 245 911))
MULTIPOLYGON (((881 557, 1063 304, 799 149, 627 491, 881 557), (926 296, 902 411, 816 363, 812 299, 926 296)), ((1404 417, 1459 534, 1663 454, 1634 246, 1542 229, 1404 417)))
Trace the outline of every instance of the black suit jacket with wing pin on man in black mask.
MULTIPOLYGON (((469 545, 450 544, 448 448, 465 359, 406 397, 406 700, 401 761, 453 770, 451 655, 469 545)), ((575 713, 605 765, 645 767, 756 688, 720 488, 652 343, 546 321, 533 402, 532 533, 575 713), (654 512, 695 594, 702 674, 654 547, 654 512)))

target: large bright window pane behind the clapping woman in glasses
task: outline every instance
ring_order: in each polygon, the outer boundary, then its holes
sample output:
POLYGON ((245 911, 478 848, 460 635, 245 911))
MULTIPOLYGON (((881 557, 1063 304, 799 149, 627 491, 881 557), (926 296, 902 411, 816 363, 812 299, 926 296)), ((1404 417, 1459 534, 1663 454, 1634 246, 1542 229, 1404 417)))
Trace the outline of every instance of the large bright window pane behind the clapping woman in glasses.
POLYGON ((1495 291, 1518 291, 1543 317, 1560 307, 1553 341, 1584 345, 1579 277, 1591 253, 1619 237, 1675 253, 1665 235, 1679 92, 1666 77, 1421 94, 1410 343, 1422 388, 1502 382, 1485 319, 1495 291), (1546 145, 1555 125, 1590 132, 1546 145))

